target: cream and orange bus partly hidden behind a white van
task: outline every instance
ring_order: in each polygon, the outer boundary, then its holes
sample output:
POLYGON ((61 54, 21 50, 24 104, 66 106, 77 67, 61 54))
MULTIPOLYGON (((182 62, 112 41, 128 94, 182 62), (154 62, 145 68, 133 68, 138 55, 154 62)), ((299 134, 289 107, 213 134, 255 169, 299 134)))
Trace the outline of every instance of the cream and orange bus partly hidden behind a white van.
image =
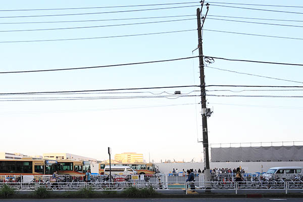
MULTIPOLYGON (((103 162, 99 163, 99 174, 104 175, 104 168, 105 166, 109 166, 110 163, 103 162)), ((129 166, 134 171, 136 171, 139 175, 143 174, 155 174, 156 168, 155 164, 152 163, 144 163, 144 162, 137 162, 137 163, 112 163, 112 166, 129 166)))

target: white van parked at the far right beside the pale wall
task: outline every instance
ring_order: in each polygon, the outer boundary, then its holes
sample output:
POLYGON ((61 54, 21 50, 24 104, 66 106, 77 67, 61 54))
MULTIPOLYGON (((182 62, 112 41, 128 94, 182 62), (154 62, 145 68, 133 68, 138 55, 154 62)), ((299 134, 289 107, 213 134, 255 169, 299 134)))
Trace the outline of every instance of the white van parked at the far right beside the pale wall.
POLYGON ((302 175, 303 167, 274 167, 268 169, 268 171, 263 174, 263 177, 268 179, 289 179, 295 175, 302 175))

